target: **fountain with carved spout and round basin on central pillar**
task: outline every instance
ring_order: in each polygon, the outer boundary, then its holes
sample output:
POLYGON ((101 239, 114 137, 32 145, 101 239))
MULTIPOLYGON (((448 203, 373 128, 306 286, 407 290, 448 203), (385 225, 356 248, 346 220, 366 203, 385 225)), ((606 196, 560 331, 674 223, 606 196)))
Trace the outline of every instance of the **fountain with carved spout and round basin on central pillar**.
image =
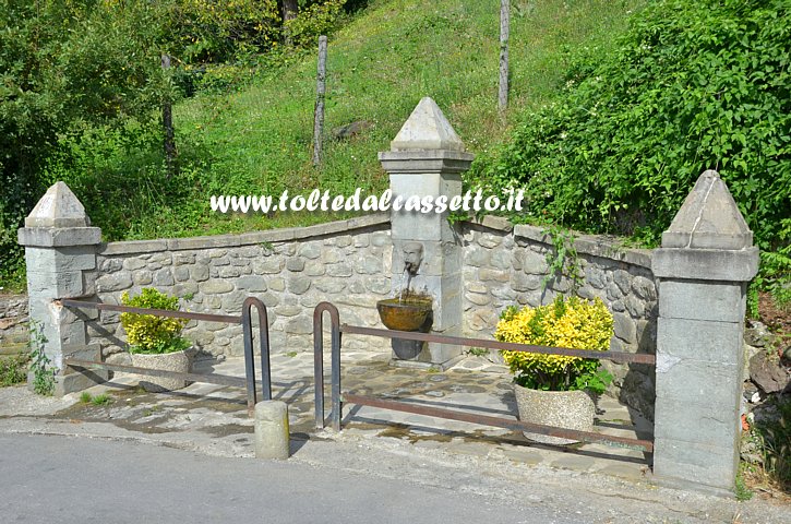
MULTIPOLYGON (((423 246, 420 242, 407 242, 404 245, 404 275, 407 277, 407 285, 395 298, 387 298, 376 302, 376 311, 382 323, 388 330, 418 331, 428 333, 433 323, 433 299, 426 293, 411 290, 411 282, 418 274, 420 263, 423 261, 423 246)), ((421 341, 406 341, 393 338, 391 341, 393 354, 396 359, 415 360, 426 349, 427 343, 421 341)))

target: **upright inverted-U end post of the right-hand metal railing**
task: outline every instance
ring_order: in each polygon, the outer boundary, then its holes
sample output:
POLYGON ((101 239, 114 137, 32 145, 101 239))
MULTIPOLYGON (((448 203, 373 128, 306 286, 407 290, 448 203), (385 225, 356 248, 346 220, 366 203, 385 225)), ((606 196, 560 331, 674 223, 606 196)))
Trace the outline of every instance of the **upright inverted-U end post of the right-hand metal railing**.
POLYGON ((314 408, 315 427, 324 428, 324 312, 329 313, 331 359, 333 403, 332 424, 340 431, 340 315, 338 308, 329 302, 320 302, 313 310, 313 376, 315 377, 314 408))

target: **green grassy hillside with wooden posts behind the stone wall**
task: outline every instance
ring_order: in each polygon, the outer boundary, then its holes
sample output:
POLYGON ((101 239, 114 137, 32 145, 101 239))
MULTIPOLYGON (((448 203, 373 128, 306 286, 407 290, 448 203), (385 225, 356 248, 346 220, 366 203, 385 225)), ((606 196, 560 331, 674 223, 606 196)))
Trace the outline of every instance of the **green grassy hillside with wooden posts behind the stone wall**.
POLYGON ((156 122, 85 128, 61 139, 44 180, 64 180, 105 240, 132 240, 299 227, 353 213, 223 215, 212 194, 351 194, 387 187, 376 154, 421 97, 431 96, 467 148, 486 156, 528 111, 555 99, 571 60, 612 46, 645 0, 516 0, 511 28, 511 104, 496 108, 499 0, 373 0, 329 37, 326 134, 355 120, 373 128, 327 140, 311 163, 316 59, 313 52, 262 58, 173 107, 180 174, 167 178, 156 122), (276 66, 272 66, 275 63, 276 66), (268 69, 266 69, 268 68, 268 69), (252 80, 251 80, 252 79, 252 80))

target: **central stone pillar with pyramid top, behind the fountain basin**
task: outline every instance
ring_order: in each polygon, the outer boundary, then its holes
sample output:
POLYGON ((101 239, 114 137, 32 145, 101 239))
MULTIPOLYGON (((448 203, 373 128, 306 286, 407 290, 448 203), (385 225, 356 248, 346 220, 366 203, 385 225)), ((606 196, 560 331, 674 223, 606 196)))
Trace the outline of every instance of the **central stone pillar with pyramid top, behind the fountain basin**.
MULTIPOLYGON (((393 203, 415 204, 416 200, 462 194, 462 174, 475 156, 464 151, 464 143, 448 123, 436 103, 420 100, 396 138, 391 151, 379 154, 389 175, 393 203)), ((418 206, 420 207, 420 206, 418 206)), ((405 247, 422 245, 422 261, 411 278, 412 290, 433 297, 433 333, 460 336, 462 333, 462 247, 458 235, 447 222, 448 212, 420 213, 391 210, 393 239, 393 291, 400 293, 407 283, 405 247), (409 245, 409 246, 407 246, 409 245)), ((407 254, 408 255, 408 254, 407 254)), ((458 346, 428 344, 418 355, 419 366, 447 368, 462 355, 458 346)), ((404 362, 404 361, 403 361, 404 362)), ((403 364, 402 362, 402 364, 403 364)))

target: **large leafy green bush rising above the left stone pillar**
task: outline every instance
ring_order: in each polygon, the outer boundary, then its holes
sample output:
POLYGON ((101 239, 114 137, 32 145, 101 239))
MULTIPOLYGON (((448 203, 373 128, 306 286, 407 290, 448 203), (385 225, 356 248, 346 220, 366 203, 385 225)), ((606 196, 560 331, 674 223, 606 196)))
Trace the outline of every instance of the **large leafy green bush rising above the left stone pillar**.
POLYGON ((3 281, 21 279, 16 228, 46 189, 41 170, 61 138, 129 115, 151 118, 159 106, 156 20, 148 2, 0 2, 3 281))

